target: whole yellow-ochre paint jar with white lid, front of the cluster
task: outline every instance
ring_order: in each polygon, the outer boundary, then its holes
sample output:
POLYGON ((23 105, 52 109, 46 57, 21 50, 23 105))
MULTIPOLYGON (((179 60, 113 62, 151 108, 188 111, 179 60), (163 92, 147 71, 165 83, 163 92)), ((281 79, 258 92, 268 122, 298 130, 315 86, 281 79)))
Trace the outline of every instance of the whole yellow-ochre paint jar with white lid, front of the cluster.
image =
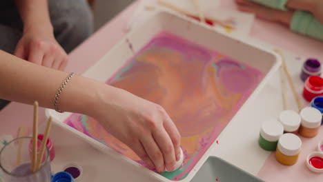
POLYGON ((294 165, 298 160, 301 148, 300 137, 293 133, 283 134, 277 144, 276 159, 284 165, 294 165))

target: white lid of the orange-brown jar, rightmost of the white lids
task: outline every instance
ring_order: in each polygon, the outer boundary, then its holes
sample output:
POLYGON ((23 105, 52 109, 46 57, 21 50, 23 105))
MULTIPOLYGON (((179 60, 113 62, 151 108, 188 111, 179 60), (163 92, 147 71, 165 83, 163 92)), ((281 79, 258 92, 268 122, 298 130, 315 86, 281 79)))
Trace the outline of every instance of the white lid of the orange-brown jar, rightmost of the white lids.
POLYGON ((322 114, 319 110, 307 107, 301 110, 302 125, 306 128, 317 128, 321 125, 322 114))

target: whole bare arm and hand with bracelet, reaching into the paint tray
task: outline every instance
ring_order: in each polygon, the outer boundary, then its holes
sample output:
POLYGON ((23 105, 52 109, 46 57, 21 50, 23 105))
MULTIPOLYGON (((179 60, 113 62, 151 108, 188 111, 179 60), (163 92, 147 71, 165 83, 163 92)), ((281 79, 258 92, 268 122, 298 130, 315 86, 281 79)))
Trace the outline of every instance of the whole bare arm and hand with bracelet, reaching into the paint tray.
MULTIPOLYGON (((55 93, 68 73, 36 65, 0 50, 0 98, 53 108, 55 93)), ((128 145, 150 168, 176 170, 180 134, 164 108, 85 77, 70 79, 59 97, 59 110, 95 118, 128 145)))

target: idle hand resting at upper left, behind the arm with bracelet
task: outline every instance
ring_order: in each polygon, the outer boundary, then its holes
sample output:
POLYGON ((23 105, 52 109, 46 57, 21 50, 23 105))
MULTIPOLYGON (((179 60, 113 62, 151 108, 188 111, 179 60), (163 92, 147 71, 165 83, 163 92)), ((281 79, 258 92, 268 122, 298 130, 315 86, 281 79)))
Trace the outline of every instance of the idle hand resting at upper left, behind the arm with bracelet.
POLYGON ((23 31, 14 55, 38 65, 64 70, 68 55, 57 43, 52 28, 39 27, 23 31))

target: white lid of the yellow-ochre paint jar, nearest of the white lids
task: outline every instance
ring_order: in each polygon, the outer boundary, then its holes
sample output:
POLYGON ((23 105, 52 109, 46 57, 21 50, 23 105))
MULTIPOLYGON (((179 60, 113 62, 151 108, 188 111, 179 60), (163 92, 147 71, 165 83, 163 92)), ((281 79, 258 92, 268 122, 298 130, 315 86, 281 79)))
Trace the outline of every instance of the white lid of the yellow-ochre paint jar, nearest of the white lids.
POLYGON ((277 148, 287 156, 294 156, 300 153, 302 141, 296 134, 286 133, 280 136, 277 148))

